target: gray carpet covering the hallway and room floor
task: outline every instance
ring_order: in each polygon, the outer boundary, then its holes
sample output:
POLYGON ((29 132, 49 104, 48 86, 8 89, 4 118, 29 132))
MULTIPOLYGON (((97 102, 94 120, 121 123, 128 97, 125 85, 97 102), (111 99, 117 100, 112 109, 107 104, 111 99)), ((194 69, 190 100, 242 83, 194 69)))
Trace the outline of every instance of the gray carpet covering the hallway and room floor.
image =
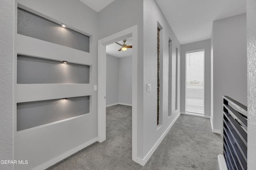
POLYGON ((47 170, 218 170, 222 138, 211 132, 210 119, 180 115, 145 166, 132 161, 132 107, 107 107, 106 126, 106 141, 47 170))

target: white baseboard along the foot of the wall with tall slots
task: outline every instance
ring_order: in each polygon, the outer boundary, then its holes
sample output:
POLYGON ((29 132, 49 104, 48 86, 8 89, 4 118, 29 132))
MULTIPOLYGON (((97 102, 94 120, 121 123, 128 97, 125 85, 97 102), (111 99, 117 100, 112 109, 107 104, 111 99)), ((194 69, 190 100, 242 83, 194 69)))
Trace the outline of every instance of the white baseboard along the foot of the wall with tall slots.
POLYGON ((171 129, 171 127, 174 125, 174 123, 176 122, 176 120, 178 119, 178 117, 180 116, 180 113, 178 113, 178 115, 175 117, 175 119, 172 121, 172 123, 169 125, 169 127, 166 129, 166 131, 164 131, 163 135, 160 137, 160 139, 158 139, 158 141, 156 142, 156 144, 152 147, 152 149, 148 152, 148 154, 144 157, 144 159, 142 158, 137 158, 137 163, 144 166, 149 158, 152 156, 152 154, 154 153, 154 151, 157 149, 157 147, 160 145, 160 143, 162 142, 162 140, 164 139, 164 137, 166 136, 166 134, 169 132, 169 130, 171 129))

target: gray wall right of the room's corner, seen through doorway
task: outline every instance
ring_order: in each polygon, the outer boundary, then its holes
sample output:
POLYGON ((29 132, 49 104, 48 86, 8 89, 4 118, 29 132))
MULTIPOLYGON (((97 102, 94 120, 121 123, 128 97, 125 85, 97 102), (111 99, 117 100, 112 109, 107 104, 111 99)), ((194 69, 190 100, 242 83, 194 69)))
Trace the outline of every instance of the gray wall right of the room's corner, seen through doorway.
POLYGON ((132 56, 119 58, 119 103, 132 104, 132 56))

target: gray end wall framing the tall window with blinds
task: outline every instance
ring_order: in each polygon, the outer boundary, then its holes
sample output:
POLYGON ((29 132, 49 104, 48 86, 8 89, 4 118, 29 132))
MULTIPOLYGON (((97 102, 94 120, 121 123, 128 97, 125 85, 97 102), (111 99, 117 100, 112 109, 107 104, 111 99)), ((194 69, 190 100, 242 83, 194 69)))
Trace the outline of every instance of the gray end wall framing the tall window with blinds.
POLYGON ((180 111, 185 112, 186 51, 205 50, 204 59, 204 115, 210 117, 210 39, 181 45, 180 56, 180 111))

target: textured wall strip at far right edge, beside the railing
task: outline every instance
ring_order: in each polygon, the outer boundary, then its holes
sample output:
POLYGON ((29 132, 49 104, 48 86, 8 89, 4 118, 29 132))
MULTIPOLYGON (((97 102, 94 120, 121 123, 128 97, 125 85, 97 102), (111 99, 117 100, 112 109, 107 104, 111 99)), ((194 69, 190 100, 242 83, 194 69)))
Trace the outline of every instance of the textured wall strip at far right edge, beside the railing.
POLYGON ((248 170, 256 167, 256 1, 247 0, 248 170))

